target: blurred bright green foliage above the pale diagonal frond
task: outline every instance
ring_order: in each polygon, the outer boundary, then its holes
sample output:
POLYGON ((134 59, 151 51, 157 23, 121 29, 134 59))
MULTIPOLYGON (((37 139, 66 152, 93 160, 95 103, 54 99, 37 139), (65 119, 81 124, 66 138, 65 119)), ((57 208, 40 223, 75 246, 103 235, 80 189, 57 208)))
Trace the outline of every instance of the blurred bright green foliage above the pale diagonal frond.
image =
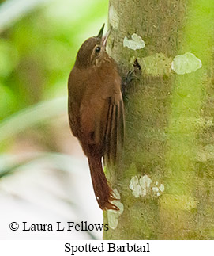
POLYGON ((66 95, 77 49, 106 19, 106 0, 62 0, 34 6, 7 29, 0 25, 0 120, 66 95))

